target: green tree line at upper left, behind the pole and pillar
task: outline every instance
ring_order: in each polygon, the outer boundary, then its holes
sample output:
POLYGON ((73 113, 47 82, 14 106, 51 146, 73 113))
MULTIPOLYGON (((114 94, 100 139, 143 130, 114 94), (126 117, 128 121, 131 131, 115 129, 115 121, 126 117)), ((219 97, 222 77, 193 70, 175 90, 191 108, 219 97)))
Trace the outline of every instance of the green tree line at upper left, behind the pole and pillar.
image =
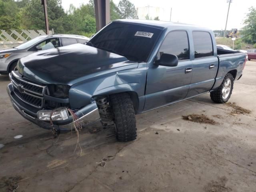
MULTIPOLYGON (((94 0, 79 8, 70 4, 64 11, 62 0, 47 0, 49 29, 55 33, 80 34, 90 37, 96 33, 94 0)), ((110 20, 137 18, 134 4, 121 0, 118 6, 110 0, 110 20)), ((44 29, 41 0, 0 0, 0 29, 44 29)))

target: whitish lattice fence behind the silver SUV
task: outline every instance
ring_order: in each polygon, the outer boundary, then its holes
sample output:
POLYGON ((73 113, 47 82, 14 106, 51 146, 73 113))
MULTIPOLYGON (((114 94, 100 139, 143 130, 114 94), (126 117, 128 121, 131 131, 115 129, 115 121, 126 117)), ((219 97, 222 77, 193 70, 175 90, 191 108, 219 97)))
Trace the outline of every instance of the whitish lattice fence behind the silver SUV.
POLYGON ((0 30, 0 49, 16 47, 40 35, 46 35, 44 30, 0 30))

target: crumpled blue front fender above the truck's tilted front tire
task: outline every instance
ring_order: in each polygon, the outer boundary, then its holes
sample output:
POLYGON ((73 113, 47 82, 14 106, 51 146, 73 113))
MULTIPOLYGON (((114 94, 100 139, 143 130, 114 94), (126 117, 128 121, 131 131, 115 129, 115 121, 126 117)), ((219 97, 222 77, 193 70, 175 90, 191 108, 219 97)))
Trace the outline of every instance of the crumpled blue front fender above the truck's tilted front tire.
MULTIPOLYGON (((135 92, 138 100, 143 101, 146 72, 146 63, 142 63, 138 68, 112 72, 74 84, 69 91, 70 107, 77 109, 93 102, 94 96, 119 92, 135 92)), ((140 102, 139 105, 144 106, 144 103, 140 102)))

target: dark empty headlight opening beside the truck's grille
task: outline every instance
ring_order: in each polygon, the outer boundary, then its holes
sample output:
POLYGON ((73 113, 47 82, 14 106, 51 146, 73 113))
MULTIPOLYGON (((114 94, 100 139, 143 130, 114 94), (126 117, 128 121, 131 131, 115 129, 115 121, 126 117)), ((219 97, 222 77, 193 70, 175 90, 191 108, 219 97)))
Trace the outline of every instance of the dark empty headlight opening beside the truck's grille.
POLYGON ((68 98, 68 92, 70 90, 69 85, 61 85, 61 84, 50 84, 48 85, 50 96, 57 98, 68 98))

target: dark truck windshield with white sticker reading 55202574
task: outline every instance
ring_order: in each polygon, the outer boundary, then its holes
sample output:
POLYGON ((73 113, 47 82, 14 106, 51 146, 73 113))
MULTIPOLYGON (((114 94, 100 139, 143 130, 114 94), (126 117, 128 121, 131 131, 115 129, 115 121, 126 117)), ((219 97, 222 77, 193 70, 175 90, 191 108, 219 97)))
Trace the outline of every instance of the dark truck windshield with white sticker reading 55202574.
POLYGON ((128 60, 146 62, 161 31, 150 26, 112 22, 87 45, 116 53, 128 60))

